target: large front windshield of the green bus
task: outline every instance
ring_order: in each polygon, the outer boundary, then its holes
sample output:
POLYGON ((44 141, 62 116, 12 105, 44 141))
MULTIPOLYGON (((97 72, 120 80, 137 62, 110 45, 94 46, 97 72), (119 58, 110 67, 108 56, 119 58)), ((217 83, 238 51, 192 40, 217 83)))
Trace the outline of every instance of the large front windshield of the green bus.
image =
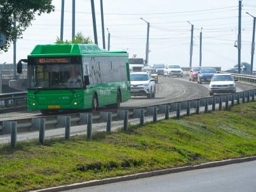
POLYGON ((82 65, 43 63, 28 65, 28 88, 82 88, 82 65))

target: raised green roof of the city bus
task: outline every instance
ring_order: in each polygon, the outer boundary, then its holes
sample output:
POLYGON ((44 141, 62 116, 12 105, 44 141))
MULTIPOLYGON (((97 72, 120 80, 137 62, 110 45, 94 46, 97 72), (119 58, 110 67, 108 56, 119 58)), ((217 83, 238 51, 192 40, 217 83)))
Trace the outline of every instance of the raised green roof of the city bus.
POLYGON ((99 48, 97 44, 37 44, 28 55, 51 55, 51 54, 101 54, 101 53, 126 53, 126 51, 107 51, 99 48))

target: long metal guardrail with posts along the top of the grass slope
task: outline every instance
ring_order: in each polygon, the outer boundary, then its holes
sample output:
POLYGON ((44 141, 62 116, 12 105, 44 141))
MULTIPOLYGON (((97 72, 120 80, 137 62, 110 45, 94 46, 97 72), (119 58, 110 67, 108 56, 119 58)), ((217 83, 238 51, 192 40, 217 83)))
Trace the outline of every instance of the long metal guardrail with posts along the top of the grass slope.
POLYGON ((71 134, 77 135, 79 133, 86 133, 86 131, 87 137, 91 139, 93 123, 96 124, 93 130, 97 131, 111 132, 111 130, 118 129, 118 127, 124 127, 123 129, 126 130, 128 124, 140 124, 143 126, 147 118, 151 119, 149 120, 150 122, 156 122, 159 115, 162 119, 168 119, 171 116, 179 119, 181 115, 189 116, 192 113, 199 114, 202 110, 204 110, 205 113, 211 110, 222 110, 222 108, 226 108, 227 110, 230 105, 233 106, 240 104, 240 102, 255 101, 255 95, 256 89, 190 101, 133 108, 130 110, 118 110, 113 113, 101 112, 100 115, 80 113, 22 119, 19 122, 3 121, 2 126, 0 126, 0 130, 2 130, 0 143, 11 143, 11 145, 15 147, 17 138, 19 141, 35 139, 38 138, 38 132, 39 141, 41 143, 44 143, 44 135, 47 135, 47 137, 63 137, 63 135, 65 135, 65 138, 69 138, 71 134), (112 120, 114 122, 112 122, 112 120), (105 129, 105 125, 102 126, 99 123, 107 123, 107 129, 105 129), (112 128, 113 124, 115 124, 114 129, 112 128), (87 125, 87 129, 85 125, 87 125), (71 126, 75 127, 72 132, 71 126))

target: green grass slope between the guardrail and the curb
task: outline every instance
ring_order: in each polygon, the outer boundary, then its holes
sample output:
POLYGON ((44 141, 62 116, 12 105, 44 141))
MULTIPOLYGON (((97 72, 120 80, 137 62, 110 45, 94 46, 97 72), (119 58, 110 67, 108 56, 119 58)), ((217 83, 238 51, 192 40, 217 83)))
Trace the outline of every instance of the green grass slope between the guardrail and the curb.
POLYGON ((26 191, 93 179, 256 155, 256 102, 182 116, 127 132, 94 133, 0 146, 0 191, 26 191))

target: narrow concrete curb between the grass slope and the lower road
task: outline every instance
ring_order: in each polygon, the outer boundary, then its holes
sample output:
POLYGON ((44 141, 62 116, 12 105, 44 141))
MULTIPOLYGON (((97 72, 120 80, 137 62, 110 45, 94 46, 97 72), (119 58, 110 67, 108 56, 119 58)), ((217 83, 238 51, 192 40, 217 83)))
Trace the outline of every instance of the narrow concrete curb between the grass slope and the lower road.
POLYGON ((222 161, 218 161, 218 162, 202 163, 200 165, 191 165, 191 166, 183 166, 183 167, 179 167, 179 168, 163 169, 163 170, 158 170, 158 171, 141 172, 138 174, 132 174, 132 175, 128 175, 128 176, 112 177, 112 178, 101 179, 101 180, 91 180, 91 181, 87 181, 87 182, 74 183, 71 185, 62 185, 59 187, 46 188, 46 189, 35 190, 35 191, 31 191, 31 192, 57 192, 57 191, 73 190, 76 188, 91 187, 91 186, 95 186, 95 185, 104 185, 107 183, 122 182, 122 181, 127 181, 127 180, 140 179, 140 178, 144 178, 144 177, 160 176, 163 174, 170 174, 170 173, 182 172, 182 171, 190 171, 190 170, 194 170, 194 169, 211 168, 211 167, 215 167, 215 166, 229 165, 232 163, 250 162, 250 161, 254 161, 254 160, 256 160, 256 156, 245 157, 245 158, 235 158, 235 159, 229 159, 229 160, 222 160, 222 161))

